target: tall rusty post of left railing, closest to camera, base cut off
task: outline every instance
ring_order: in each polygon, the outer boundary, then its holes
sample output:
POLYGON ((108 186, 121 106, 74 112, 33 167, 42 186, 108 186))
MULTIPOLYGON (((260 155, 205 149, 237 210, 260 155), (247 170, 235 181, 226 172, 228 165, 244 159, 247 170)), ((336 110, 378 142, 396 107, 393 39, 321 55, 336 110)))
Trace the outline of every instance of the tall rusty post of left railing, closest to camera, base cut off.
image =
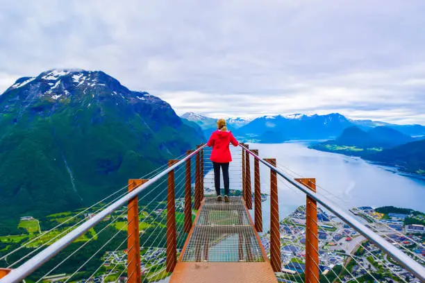
MULTIPOLYGON (((143 185, 146 179, 128 180, 128 192, 143 185)), ((139 203, 135 196, 128 200, 127 206, 127 278, 130 283, 142 281, 140 272, 139 203)))

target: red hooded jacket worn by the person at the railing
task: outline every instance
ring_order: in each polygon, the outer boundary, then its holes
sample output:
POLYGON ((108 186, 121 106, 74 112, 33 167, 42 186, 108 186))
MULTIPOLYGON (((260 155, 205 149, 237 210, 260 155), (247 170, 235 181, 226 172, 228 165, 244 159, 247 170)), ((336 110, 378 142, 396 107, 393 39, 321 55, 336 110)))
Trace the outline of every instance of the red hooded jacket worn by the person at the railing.
POLYGON ((213 146, 210 160, 217 163, 227 163, 232 161, 232 155, 228 145, 232 143, 233 146, 238 146, 238 141, 233 137, 230 131, 223 132, 216 130, 211 134, 208 146, 213 146))

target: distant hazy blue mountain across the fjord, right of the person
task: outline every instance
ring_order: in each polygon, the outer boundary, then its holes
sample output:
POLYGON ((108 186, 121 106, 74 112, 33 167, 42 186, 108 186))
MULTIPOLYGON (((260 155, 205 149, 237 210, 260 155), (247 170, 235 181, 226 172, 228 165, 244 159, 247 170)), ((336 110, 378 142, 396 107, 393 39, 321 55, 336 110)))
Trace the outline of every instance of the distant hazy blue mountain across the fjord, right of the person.
POLYGON ((282 142, 289 139, 327 139, 341 134, 353 124, 338 113, 327 115, 293 114, 264 116, 238 129, 241 135, 260 142, 282 142))

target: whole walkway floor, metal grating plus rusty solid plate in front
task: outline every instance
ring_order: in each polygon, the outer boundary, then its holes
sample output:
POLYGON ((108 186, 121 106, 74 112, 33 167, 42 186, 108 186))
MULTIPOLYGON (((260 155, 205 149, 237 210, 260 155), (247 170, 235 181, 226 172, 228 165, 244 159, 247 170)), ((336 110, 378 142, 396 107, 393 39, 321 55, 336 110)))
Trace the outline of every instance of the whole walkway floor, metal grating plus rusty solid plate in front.
POLYGON ((277 282, 242 197, 205 196, 169 282, 277 282))

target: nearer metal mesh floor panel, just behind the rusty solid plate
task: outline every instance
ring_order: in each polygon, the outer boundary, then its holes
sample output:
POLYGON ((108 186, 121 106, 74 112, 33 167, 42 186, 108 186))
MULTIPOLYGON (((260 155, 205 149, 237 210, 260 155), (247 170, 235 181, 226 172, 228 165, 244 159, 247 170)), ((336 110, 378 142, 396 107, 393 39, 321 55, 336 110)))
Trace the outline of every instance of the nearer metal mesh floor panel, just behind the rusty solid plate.
POLYGON ((195 226, 183 261, 264 261, 251 226, 195 226))

